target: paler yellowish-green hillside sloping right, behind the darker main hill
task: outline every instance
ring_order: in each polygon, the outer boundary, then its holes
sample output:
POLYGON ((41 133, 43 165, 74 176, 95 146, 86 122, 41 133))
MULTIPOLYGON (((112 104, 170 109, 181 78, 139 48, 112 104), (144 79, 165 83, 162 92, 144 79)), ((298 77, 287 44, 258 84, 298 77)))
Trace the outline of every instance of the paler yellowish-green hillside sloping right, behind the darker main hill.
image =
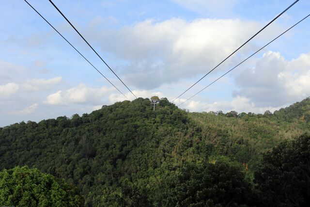
POLYGON ((211 111, 188 116, 202 128, 202 140, 212 146, 209 153, 226 155, 255 169, 262 152, 310 132, 310 98, 273 114, 211 111))

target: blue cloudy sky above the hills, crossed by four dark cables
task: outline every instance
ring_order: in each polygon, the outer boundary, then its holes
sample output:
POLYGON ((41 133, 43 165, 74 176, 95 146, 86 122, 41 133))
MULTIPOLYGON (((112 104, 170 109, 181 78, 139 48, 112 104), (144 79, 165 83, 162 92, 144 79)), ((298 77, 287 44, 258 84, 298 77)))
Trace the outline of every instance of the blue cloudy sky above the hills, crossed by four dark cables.
MULTIPOLYGON (((134 97, 47 0, 29 0, 130 100, 134 97)), ((138 97, 174 100, 293 0, 54 0, 138 97)), ((299 0, 179 105, 310 13, 299 0)), ((123 101, 23 0, 0 7, 0 127, 123 101)), ((179 107, 263 113, 310 96, 310 17, 179 107)))

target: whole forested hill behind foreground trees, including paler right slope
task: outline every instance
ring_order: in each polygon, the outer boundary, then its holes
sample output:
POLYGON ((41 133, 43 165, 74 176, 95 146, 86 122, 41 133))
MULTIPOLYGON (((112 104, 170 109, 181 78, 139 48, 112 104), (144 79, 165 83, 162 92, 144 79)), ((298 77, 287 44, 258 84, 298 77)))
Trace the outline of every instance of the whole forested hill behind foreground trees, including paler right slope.
POLYGON ((0 128, 0 170, 28 165, 64 178, 78 186, 85 206, 169 206, 168 180, 188 163, 233 163, 229 169, 251 179, 262 152, 309 131, 309 98, 273 114, 189 113, 166 98, 153 111, 149 99, 138 98, 0 128))

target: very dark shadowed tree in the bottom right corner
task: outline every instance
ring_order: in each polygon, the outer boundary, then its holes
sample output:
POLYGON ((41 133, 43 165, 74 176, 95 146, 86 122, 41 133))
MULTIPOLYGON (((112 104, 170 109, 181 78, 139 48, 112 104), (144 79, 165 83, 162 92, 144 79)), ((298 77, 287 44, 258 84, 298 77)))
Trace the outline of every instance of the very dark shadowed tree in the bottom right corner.
POLYGON ((280 143, 264 154, 254 177, 263 206, 309 205, 310 135, 280 143))

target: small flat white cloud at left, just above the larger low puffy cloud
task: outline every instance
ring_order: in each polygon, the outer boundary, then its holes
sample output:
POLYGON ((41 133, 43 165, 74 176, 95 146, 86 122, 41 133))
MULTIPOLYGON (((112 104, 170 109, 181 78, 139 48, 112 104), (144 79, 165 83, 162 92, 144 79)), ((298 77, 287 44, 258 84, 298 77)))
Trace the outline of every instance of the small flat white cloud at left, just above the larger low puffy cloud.
POLYGON ((52 86, 60 83, 62 77, 56 77, 52 79, 31 79, 22 84, 22 88, 26 91, 44 91, 49 90, 52 86))

